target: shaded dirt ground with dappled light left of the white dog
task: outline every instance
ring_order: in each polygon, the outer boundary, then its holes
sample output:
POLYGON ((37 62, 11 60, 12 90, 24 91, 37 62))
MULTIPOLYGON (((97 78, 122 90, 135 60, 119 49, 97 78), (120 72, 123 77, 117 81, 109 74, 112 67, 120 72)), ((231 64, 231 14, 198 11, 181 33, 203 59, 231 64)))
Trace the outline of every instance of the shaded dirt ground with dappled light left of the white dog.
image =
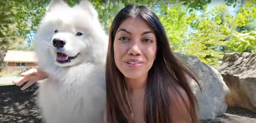
POLYGON ((18 86, 0 86, 0 123, 43 123, 36 105, 37 86, 21 91, 18 86))

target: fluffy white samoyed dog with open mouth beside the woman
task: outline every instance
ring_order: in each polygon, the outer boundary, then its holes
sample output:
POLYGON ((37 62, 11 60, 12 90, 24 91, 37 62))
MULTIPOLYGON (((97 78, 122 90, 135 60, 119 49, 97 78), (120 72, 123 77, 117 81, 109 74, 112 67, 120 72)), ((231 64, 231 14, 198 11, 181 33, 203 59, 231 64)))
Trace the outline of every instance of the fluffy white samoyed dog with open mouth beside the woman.
POLYGON ((38 103, 46 123, 103 123, 107 35, 87 0, 70 7, 52 0, 34 39, 38 103))

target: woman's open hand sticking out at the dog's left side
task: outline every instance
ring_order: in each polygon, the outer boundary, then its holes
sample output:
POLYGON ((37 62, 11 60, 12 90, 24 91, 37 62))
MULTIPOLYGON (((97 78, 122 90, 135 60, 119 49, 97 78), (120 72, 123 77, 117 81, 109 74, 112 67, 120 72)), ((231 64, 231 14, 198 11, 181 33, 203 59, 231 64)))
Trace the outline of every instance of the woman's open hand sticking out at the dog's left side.
POLYGON ((25 90, 29 86, 38 82, 39 80, 46 79, 47 77, 48 77, 47 74, 44 71, 42 71, 41 69, 32 68, 24 73, 21 73, 19 79, 14 80, 13 84, 15 84, 17 86, 23 85, 21 90, 25 90))

